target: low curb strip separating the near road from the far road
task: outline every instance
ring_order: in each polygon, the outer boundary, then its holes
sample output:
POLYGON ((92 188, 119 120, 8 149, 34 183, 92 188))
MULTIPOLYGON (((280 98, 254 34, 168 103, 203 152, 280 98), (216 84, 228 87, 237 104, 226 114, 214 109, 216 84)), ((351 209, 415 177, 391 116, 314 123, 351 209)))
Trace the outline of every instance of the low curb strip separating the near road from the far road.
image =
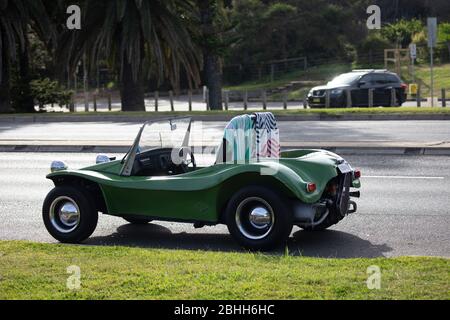
MULTIPOLYGON (((203 152, 215 152, 217 148, 196 146, 203 152)), ((324 149, 343 155, 411 155, 411 156, 450 156, 450 148, 423 147, 336 147, 336 146, 289 146, 289 149, 324 149)), ((129 146, 94 146, 94 145, 2 145, 0 152, 23 153, 126 153, 129 146)), ((198 152, 198 151, 197 151, 198 152)))

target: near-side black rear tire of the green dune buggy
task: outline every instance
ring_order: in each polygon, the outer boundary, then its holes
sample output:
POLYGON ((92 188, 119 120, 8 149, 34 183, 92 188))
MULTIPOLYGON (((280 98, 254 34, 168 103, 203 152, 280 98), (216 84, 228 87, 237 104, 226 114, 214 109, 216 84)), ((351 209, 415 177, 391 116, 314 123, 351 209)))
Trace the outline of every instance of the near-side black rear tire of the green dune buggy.
POLYGON ((279 194, 264 187, 249 186, 238 191, 230 199, 225 210, 225 222, 230 234, 241 246, 250 250, 265 251, 287 241, 293 227, 293 215, 286 206, 285 199, 279 194), (254 212, 256 208, 266 210, 270 215, 271 223, 267 224, 267 227, 261 229, 263 223, 256 228, 255 221, 250 221, 252 220, 250 212, 254 212))

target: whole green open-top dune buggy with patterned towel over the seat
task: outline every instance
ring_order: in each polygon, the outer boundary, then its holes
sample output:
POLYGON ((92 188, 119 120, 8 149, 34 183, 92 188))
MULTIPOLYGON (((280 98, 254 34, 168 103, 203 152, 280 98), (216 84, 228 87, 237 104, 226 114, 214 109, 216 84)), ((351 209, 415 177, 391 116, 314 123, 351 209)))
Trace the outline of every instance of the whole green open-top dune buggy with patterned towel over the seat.
POLYGON ((207 167, 196 165, 189 146, 190 118, 145 123, 123 159, 100 155, 96 165, 78 170, 54 161, 47 178, 55 188, 43 205, 47 230, 79 243, 101 212, 134 224, 226 224, 243 247, 267 250, 285 242, 295 225, 322 230, 356 211, 351 197, 359 192, 351 189, 360 187, 360 172, 343 158, 325 150, 280 152, 270 113, 235 119, 207 167), (264 121, 255 125, 260 116, 270 116, 275 135, 264 121))

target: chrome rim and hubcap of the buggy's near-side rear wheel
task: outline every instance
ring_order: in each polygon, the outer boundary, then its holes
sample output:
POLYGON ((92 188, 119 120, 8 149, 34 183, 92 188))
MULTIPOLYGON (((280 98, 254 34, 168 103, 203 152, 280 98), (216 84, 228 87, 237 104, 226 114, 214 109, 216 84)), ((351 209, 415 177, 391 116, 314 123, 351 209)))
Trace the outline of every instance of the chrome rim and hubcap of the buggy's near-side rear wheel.
POLYGON ((236 225, 248 239, 264 239, 272 231, 274 222, 272 207, 259 197, 245 199, 236 209, 236 225))

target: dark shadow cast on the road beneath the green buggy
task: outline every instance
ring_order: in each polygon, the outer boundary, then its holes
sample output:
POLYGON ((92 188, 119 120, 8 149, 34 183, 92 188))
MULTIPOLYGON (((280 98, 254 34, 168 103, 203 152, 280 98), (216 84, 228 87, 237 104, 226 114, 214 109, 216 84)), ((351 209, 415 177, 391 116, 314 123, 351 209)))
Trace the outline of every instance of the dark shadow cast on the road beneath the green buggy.
MULTIPOLYGON (((170 229, 157 225, 144 226, 125 224, 108 236, 92 237, 88 245, 130 246, 141 248, 184 249, 206 251, 244 251, 229 234, 220 233, 172 233, 170 229)), ((375 258, 383 257, 392 249, 374 245, 368 240, 342 231, 296 231, 288 242, 289 254, 321 258, 375 258)), ((270 254, 285 254, 279 248, 270 254)))

